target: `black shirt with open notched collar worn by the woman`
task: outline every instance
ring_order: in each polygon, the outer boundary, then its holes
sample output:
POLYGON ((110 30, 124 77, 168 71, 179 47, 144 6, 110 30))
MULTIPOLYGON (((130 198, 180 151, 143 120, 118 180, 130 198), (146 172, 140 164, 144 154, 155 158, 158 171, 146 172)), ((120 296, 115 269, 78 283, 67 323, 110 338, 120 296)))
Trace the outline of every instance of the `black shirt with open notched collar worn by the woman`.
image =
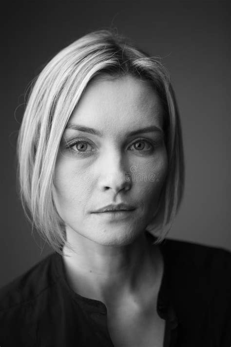
MULTIPOLYGON (((163 347, 230 347, 231 252, 168 238, 158 247, 163 347)), ((113 347, 106 306, 71 289, 57 252, 0 289, 0 347, 9 346, 113 347)))

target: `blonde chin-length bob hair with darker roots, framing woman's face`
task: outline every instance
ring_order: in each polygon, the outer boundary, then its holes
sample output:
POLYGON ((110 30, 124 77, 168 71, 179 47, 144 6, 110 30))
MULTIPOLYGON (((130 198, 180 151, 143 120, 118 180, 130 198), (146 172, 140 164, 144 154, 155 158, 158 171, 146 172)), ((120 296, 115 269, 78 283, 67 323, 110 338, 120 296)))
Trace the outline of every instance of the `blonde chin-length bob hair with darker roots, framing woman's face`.
POLYGON ((184 189, 184 155, 178 108, 169 73, 159 61, 113 30, 91 32, 61 50, 31 86, 17 143, 18 188, 27 218, 43 240, 61 254, 67 243, 52 188, 65 126, 84 89, 96 76, 132 75, 149 81, 164 109, 168 172, 158 208, 146 230, 163 241, 172 227, 184 189))

